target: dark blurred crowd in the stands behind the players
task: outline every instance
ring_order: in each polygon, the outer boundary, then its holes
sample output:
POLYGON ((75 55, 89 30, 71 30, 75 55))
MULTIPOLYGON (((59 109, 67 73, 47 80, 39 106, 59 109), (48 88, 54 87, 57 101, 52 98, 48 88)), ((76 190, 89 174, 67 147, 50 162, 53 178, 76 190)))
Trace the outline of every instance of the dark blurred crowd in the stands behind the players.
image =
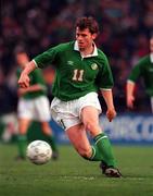
MULTIPOLYGON (((82 15, 92 15, 100 24, 97 45, 110 60, 117 110, 125 110, 128 74, 139 58, 149 53, 153 0, 3 0, 1 3, 0 114, 13 109, 4 108, 11 107, 7 101, 16 103, 15 48, 24 45, 34 58, 49 47, 73 40, 74 22, 82 15)), ((142 88, 143 85, 137 88, 138 105, 146 100, 142 88)), ((145 111, 143 106, 139 110, 145 111)))

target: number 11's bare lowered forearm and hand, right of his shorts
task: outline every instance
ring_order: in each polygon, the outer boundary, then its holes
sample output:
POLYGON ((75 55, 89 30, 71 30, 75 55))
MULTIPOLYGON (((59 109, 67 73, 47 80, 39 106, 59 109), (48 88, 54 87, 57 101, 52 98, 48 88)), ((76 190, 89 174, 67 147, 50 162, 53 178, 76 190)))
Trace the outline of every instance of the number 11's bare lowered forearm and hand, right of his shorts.
POLYGON ((106 117, 109 121, 111 122, 116 117, 112 89, 101 89, 101 94, 107 107, 106 117))

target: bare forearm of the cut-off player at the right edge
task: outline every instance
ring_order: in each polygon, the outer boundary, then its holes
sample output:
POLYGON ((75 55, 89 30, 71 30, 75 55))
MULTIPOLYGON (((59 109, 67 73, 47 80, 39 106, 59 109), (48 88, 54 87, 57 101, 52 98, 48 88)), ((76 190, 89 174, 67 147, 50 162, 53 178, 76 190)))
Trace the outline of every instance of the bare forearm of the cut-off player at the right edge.
POLYGON ((127 85, 126 85, 126 102, 127 102, 127 107, 133 109, 133 101, 135 101, 135 82, 132 81, 127 81, 127 85))

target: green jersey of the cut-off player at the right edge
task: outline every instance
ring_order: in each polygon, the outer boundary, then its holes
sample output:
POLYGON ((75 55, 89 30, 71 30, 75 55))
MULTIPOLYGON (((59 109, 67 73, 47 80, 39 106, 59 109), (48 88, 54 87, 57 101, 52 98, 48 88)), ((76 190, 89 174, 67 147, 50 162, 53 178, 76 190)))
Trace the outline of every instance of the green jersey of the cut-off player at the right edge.
POLYGON ((146 94, 153 96, 153 62, 150 56, 145 56, 135 65, 128 79, 136 82, 140 76, 143 78, 146 94))

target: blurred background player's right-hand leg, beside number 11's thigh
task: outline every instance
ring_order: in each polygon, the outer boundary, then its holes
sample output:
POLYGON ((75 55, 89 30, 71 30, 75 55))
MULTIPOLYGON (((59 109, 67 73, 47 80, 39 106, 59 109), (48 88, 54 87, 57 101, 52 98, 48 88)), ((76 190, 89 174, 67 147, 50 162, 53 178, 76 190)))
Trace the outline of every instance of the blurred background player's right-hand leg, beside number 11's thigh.
POLYGON ((59 150, 58 150, 58 145, 55 143, 55 138, 53 136, 53 132, 50 127, 50 124, 46 121, 41 122, 41 130, 43 132, 43 134, 47 137, 48 143, 51 145, 51 148, 53 150, 52 154, 52 159, 58 159, 59 158, 59 150))

